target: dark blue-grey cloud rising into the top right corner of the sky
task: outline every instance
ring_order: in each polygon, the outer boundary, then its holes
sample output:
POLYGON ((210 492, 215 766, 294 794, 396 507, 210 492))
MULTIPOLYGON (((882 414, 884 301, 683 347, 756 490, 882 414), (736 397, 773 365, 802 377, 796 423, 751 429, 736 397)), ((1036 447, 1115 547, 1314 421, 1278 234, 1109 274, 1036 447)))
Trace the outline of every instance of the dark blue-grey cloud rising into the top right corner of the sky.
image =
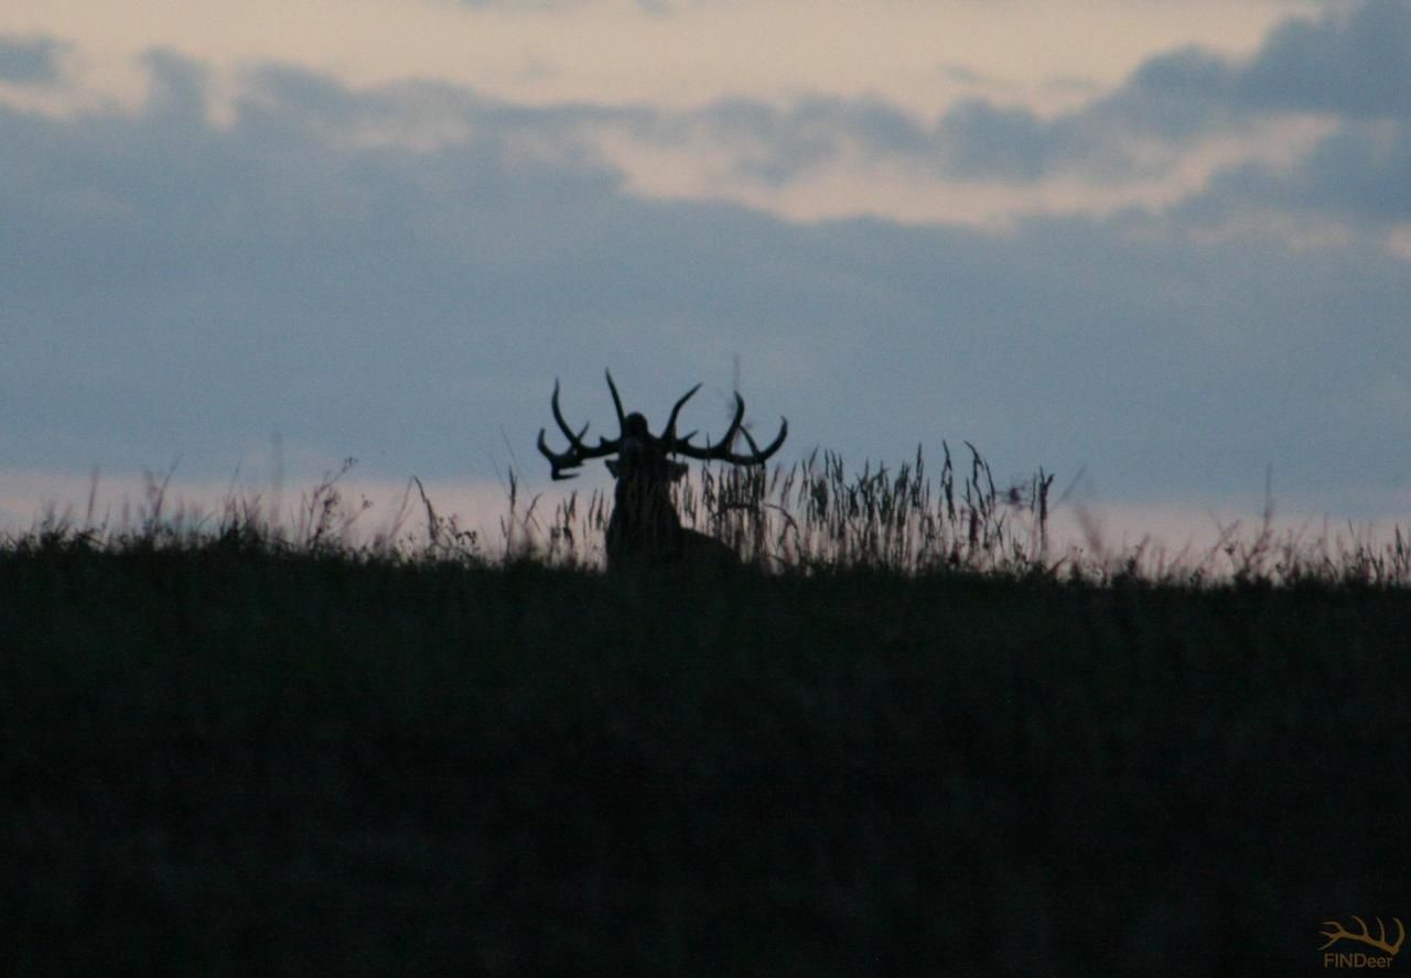
POLYGON ((927 151, 965 179, 1132 180, 1175 168, 1201 140, 1308 113, 1411 121, 1411 4, 1369 0, 1318 20, 1285 20, 1243 61, 1194 47, 1163 52, 1116 92, 1055 117, 968 99, 941 116, 927 151), (1153 158, 1154 142, 1167 151, 1153 158))

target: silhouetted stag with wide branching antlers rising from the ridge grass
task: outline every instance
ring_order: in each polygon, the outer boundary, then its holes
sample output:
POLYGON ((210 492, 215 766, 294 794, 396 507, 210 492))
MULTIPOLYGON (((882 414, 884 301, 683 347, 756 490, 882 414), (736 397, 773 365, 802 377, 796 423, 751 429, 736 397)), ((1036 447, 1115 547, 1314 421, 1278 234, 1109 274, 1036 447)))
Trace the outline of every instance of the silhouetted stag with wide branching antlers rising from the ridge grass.
POLYGON ((584 462, 594 458, 607 458, 608 471, 617 479, 612 493, 612 517, 608 520, 607 551, 608 569, 619 569, 631 565, 663 565, 663 564, 715 564, 732 565, 739 562, 739 557, 728 545, 682 526, 682 517, 672 503, 672 483, 686 475, 687 466, 677 462, 672 455, 696 458, 701 461, 721 461, 732 465, 763 465, 765 461, 779 451, 789 434, 789 421, 779 419, 779 434, 763 451, 755 444, 749 431, 741 427, 745 417, 745 400, 735 395, 735 419, 720 441, 704 447, 693 445, 694 431, 682 437, 676 434, 676 417, 682 413, 682 406, 690 400, 691 395, 700 390, 696 385, 672 407, 670 417, 666 419, 666 430, 660 435, 653 435, 646 426, 646 419, 638 411, 622 413, 622 399, 618 396, 617 385, 612 383, 612 373, 607 373, 608 390, 612 392, 612 406, 618 416, 618 437, 598 438, 598 444, 588 445, 583 438, 588 433, 588 426, 574 434, 569 423, 563 420, 559 410, 559 382, 553 382, 553 420, 559 423, 559 430, 569 440, 569 451, 555 452, 543 440, 543 428, 539 428, 539 451, 549 459, 555 479, 571 479, 584 462), (737 435, 742 435, 749 444, 749 454, 739 454, 731 450, 737 435), (617 458, 608 458, 615 455, 617 458))

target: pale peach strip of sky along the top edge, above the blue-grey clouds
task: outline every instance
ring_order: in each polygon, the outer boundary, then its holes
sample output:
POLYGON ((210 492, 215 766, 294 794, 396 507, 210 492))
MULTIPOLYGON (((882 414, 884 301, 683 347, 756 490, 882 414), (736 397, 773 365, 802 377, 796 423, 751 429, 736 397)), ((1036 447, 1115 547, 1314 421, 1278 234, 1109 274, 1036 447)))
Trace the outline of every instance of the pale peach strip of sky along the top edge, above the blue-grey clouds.
POLYGON ((186 52, 229 72, 281 62, 344 83, 437 79, 502 99, 684 109, 724 96, 875 97, 934 116, 962 94, 1071 106, 1054 79, 1115 85, 1153 51, 1257 45, 1287 0, 974 3, 706 0, 669 16, 638 0, 7 0, 0 32, 52 35, 83 52, 86 80, 138 104, 134 59, 186 52), (1116 30, 1120 25, 1120 30, 1116 30), (947 66, 982 69, 986 92, 947 66))

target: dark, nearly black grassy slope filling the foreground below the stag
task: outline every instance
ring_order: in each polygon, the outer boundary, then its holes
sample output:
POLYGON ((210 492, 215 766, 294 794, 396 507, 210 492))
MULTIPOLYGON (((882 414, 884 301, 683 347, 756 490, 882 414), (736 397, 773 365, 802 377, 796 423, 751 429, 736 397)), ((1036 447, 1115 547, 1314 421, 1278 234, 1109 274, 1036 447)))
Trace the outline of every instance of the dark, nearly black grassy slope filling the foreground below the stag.
POLYGON ((0 972, 1321 971, 1411 917, 1408 623, 8 551, 0 972))

